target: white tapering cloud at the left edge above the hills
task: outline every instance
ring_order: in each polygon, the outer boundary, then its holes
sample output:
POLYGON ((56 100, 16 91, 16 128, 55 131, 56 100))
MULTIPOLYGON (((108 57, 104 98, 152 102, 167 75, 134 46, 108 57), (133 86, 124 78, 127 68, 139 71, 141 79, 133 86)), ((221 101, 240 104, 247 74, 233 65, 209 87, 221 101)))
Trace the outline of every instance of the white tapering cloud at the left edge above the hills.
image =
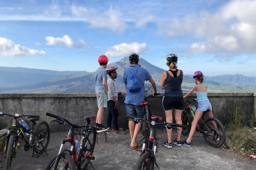
POLYGON ((0 56, 30 56, 45 54, 43 50, 29 49, 19 44, 14 44, 11 40, 0 37, 0 56))

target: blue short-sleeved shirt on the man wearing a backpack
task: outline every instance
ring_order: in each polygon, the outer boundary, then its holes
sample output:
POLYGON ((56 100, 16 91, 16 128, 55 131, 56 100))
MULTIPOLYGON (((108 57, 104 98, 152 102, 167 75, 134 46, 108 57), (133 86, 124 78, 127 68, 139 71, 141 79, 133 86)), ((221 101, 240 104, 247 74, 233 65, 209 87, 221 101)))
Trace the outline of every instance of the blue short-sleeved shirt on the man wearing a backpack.
MULTIPOLYGON (((138 67, 140 67, 140 65, 131 65, 129 67, 129 70, 134 74, 137 70, 138 67)), ((128 80, 130 79, 132 73, 129 70, 125 70, 124 71, 124 75, 123 75, 123 82, 127 83, 128 80)), ((140 105, 145 97, 145 87, 144 87, 144 82, 145 80, 149 80, 151 79, 151 75, 148 73, 148 71, 146 69, 144 69, 143 67, 140 67, 136 77, 138 78, 140 84, 141 84, 141 90, 138 92, 129 92, 129 90, 127 90, 126 95, 125 95, 125 100, 124 103, 126 104, 132 104, 132 105, 140 105)))

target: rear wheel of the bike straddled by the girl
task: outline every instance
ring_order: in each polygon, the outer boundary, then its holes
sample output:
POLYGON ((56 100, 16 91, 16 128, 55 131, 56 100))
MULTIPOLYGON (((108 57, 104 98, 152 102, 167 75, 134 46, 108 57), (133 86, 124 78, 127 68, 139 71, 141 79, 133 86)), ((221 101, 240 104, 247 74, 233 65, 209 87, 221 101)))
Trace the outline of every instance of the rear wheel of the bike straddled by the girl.
POLYGON ((205 141, 212 147, 218 148, 223 145, 226 139, 224 126, 217 118, 207 118, 202 124, 205 141), (216 124, 217 129, 214 128, 216 124))

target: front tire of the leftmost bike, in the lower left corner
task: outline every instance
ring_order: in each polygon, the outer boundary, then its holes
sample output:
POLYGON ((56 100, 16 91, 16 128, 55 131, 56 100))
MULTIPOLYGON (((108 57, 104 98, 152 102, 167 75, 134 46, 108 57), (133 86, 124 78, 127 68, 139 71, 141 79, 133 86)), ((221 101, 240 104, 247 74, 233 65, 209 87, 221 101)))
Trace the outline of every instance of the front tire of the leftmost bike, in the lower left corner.
POLYGON ((11 132, 9 136, 9 143, 8 143, 7 152, 6 152, 5 170, 11 169, 13 151, 15 149, 15 146, 14 146, 15 135, 16 134, 14 132, 11 132))

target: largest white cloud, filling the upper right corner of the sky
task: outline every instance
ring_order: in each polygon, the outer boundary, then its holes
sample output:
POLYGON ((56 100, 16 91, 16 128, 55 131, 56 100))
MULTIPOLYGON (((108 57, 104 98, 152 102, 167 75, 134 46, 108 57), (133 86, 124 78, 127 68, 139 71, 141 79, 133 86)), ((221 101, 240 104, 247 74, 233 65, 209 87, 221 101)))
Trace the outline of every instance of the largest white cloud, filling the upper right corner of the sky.
MULTIPOLYGON (((189 49, 193 54, 256 52, 255 9, 256 1, 230 1, 213 14, 203 11, 168 22, 159 21, 158 34, 192 36, 201 40, 191 44, 189 49)), ((225 60, 227 58, 230 57, 225 60)))

